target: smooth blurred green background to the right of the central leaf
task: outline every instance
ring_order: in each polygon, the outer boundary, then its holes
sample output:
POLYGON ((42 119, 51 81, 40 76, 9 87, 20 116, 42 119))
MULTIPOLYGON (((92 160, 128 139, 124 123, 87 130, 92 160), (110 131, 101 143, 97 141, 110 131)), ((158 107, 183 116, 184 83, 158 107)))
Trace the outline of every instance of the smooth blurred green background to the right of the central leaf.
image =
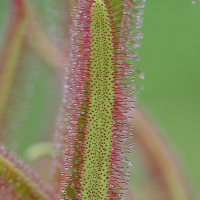
POLYGON ((200 2, 146 1, 141 101, 200 186, 200 2))

